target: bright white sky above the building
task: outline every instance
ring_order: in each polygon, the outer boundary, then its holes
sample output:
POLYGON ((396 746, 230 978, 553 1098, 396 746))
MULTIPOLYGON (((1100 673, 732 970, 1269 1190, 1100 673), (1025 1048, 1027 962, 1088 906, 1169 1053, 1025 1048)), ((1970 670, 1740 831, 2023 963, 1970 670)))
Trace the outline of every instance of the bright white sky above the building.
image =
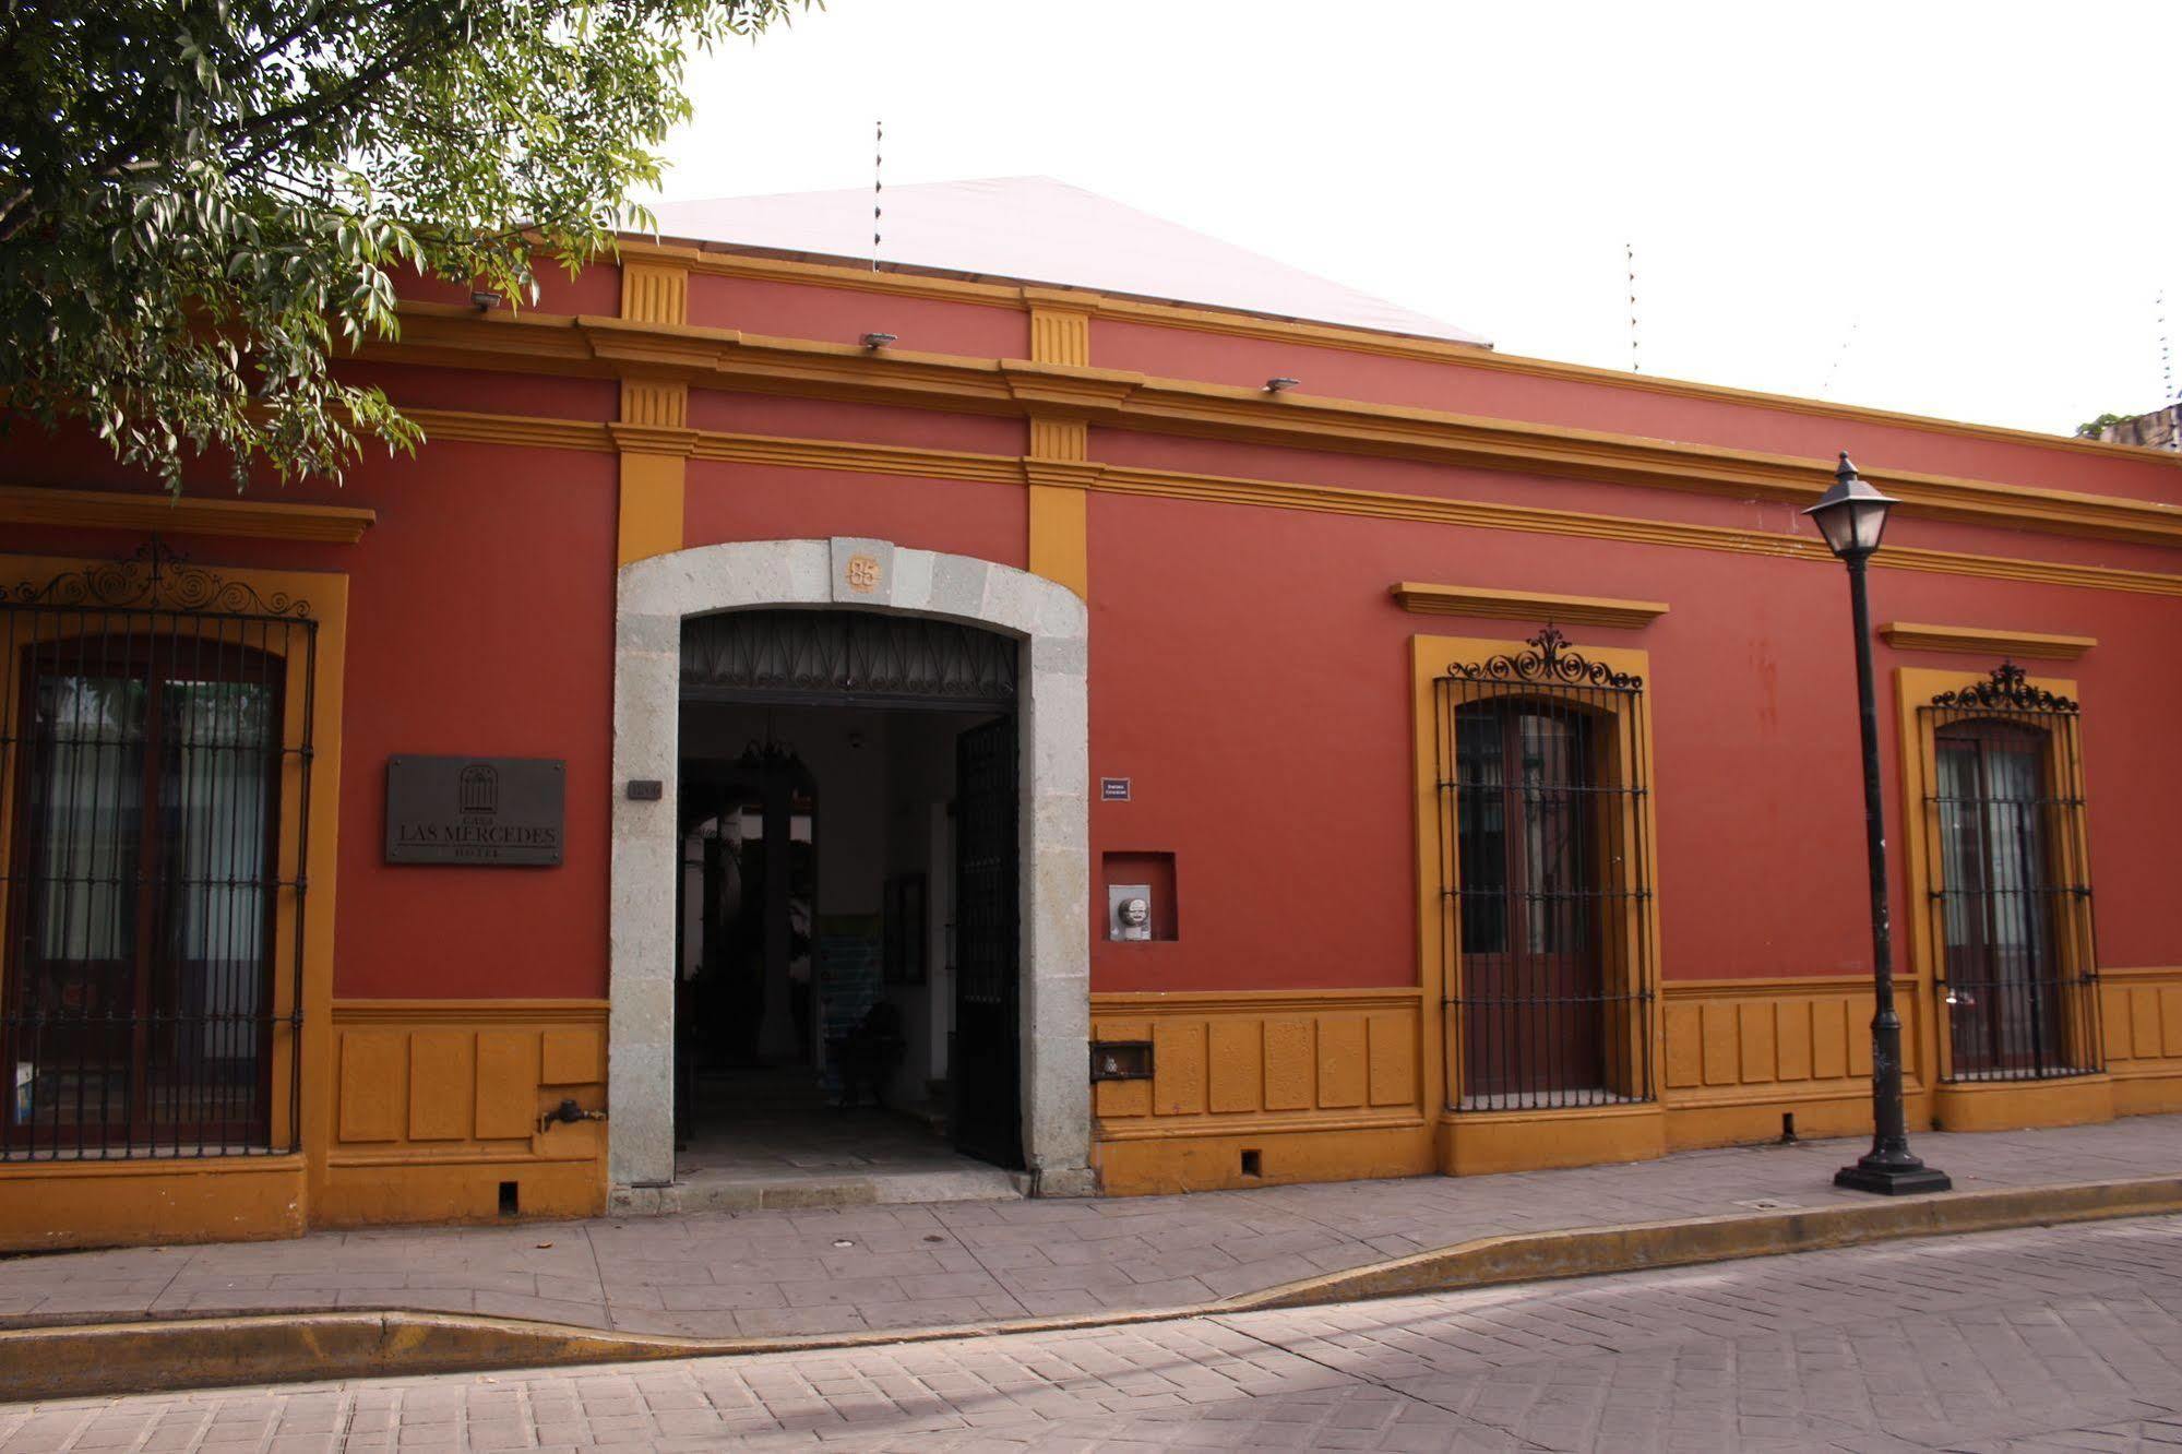
MULTIPOLYGON (((2167 4, 829 0, 670 199, 1050 175, 1508 354, 2069 432, 2182 341, 2167 4), (1844 347, 1846 345, 1846 347, 1844 347)), ((2182 351, 2175 356, 2182 386, 2182 351)))

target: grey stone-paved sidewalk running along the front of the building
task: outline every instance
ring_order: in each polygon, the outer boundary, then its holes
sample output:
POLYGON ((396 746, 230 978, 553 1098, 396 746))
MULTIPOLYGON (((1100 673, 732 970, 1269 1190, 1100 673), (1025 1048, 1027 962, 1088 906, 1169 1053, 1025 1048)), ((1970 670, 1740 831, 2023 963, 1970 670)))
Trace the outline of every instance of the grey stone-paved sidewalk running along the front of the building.
MULTIPOLYGON (((1920 1135, 1959 1192, 2182 1175, 2182 1116, 1920 1135)), ((694 1338, 1200 1308, 1508 1233, 1868 1205, 1863 1142, 1634 1166, 1191 1196, 700 1212, 325 1231, 0 1260, 0 1327, 334 1310, 467 1312, 694 1338)))

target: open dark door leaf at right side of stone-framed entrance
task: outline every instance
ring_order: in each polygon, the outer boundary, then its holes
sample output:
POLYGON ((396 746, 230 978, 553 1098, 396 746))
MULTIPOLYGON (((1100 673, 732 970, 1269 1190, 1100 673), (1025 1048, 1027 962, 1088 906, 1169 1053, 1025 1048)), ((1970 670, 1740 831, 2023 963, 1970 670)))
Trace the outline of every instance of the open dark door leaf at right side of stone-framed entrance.
POLYGON ((1023 1164, 1015 716, 956 738, 954 1140, 1023 1164))

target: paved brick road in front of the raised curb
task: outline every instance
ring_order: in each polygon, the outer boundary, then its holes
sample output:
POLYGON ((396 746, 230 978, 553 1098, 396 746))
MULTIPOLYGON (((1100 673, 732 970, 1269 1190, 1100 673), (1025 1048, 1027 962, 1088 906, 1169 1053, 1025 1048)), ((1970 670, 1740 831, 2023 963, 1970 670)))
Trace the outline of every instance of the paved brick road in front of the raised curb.
POLYGON ((862 1351, 0 1408, 0 1450, 2182 1445, 2182 1218, 862 1351))

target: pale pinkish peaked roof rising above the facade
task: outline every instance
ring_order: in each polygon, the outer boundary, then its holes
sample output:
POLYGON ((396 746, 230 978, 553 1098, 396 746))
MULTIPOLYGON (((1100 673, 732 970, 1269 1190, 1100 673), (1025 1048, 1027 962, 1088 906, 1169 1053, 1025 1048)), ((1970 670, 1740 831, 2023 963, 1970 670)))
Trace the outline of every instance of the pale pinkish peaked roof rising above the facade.
MULTIPOLYGON (((1490 347, 1464 332, 1052 177, 886 188, 879 262, 1128 293, 1490 347)), ((871 192, 661 203, 666 238, 866 262, 871 192)))

